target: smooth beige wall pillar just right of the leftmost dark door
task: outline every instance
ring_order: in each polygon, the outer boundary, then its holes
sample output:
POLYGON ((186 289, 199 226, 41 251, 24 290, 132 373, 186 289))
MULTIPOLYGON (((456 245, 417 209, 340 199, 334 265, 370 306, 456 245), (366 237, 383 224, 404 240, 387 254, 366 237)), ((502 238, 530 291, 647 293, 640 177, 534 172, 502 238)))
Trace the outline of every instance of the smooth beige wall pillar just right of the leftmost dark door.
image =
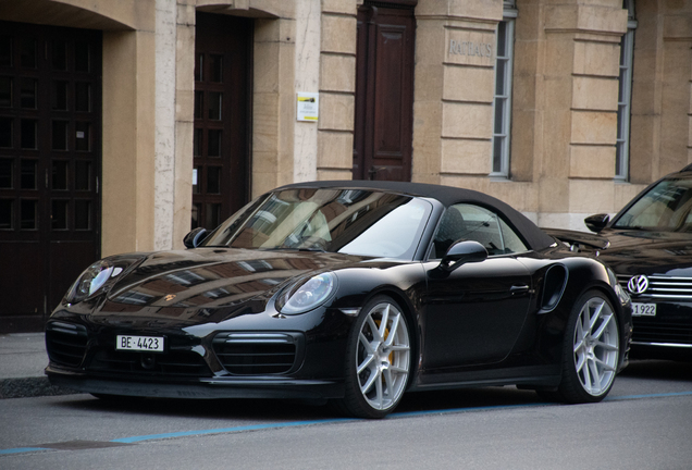
POLYGON ((155 245, 155 33, 103 33, 103 169, 101 255, 155 245))

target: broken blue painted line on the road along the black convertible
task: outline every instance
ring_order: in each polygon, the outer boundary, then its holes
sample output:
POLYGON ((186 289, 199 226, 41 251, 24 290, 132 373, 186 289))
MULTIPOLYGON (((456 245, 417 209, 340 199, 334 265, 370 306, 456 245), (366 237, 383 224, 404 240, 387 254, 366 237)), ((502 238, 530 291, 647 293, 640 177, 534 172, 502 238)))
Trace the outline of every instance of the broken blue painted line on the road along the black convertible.
MULTIPOLYGON (((648 395, 609 396, 609 397, 606 397, 604 401, 634 400, 634 399, 644 399, 644 398, 670 398, 670 397, 683 397, 683 396, 692 396, 692 391, 648 394, 648 395)), ((424 410, 424 411, 401 411, 401 412, 392 413, 388 417, 386 417, 386 419, 410 418, 410 417, 425 416, 425 415, 452 415, 452 413, 489 411, 489 410, 501 410, 501 409, 532 408, 532 407, 540 407, 540 406, 542 407, 542 406, 551 406, 551 405, 555 405, 555 404, 530 403, 530 404, 520 404, 520 405, 496 405, 496 406, 449 408, 449 409, 424 410)), ((134 443, 140 443, 146 441, 173 438, 173 437, 187 437, 187 436, 197 436, 197 435, 205 435, 205 434, 224 434, 224 433, 243 432, 243 431, 260 431, 260 430, 267 430, 267 429, 296 428, 296 426, 312 425, 312 424, 331 424, 331 423, 355 422, 355 421, 367 421, 367 420, 357 419, 357 418, 334 418, 334 419, 310 420, 310 421, 289 421, 284 423, 249 424, 249 425, 233 426, 233 428, 217 428, 217 429, 208 429, 208 430, 181 431, 181 432, 174 432, 174 433, 120 437, 120 438, 112 440, 110 442, 134 444, 134 443)), ((46 447, 15 447, 10 449, 0 449, 0 456, 40 452, 40 450, 54 450, 54 449, 46 448, 46 447)))

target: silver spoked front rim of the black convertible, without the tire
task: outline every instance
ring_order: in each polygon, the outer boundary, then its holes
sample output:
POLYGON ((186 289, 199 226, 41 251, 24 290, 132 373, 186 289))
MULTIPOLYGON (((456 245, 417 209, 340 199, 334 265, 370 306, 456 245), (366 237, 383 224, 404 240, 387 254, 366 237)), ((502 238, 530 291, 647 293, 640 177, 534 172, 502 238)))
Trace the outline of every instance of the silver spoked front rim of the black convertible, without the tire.
POLYGON ((363 398, 375 410, 396 405, 406 388, 410 344, 406 320, 392 304, 375 305, 362 322, 356 375, 363 398))

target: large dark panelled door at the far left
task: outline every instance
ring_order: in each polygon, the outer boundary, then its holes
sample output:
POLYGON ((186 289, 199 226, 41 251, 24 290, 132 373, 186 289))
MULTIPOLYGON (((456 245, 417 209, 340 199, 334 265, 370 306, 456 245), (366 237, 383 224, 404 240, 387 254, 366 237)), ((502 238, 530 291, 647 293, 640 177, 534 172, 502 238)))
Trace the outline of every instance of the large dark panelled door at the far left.
POLYGON ((0 332, 99 257, 100 87, 100 32, 0 22, 0 332))

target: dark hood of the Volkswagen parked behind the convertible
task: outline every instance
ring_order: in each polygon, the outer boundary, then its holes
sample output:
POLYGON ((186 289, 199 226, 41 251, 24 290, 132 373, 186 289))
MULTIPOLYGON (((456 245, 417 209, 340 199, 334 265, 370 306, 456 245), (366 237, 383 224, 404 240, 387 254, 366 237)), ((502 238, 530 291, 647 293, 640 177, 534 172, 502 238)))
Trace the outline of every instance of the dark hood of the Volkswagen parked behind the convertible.
POLYGON ((600 235, 610 246, 600 259, 617 274, 692 276, 692 235, 606 228, 600 235))

